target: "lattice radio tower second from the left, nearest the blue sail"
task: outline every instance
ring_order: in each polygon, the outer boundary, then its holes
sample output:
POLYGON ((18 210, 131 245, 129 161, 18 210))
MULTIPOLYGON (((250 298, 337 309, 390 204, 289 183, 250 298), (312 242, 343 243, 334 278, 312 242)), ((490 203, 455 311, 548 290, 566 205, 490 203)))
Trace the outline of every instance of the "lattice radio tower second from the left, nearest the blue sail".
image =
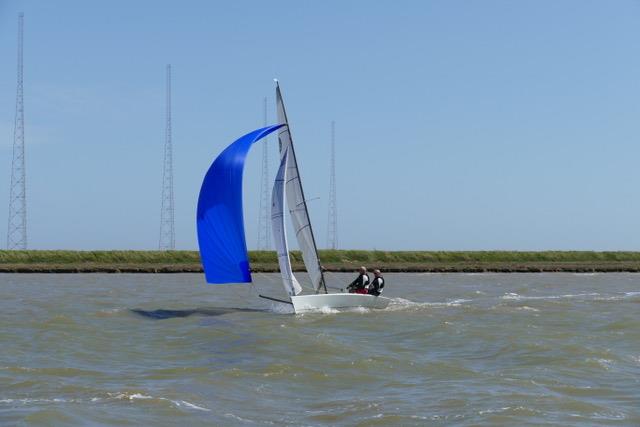
POLYGON ((171 143, 171 64, 167 65, 166 125, 164 135, 164 164, 162 169, 162 207, 160 210, 161 251, 176 248, 173 209, 173 147, 171 143))

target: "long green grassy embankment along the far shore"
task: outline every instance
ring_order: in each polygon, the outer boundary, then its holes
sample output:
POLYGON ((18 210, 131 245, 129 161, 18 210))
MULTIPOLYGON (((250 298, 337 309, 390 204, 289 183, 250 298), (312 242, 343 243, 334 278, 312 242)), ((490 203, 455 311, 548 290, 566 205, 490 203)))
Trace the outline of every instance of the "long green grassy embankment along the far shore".
MULTIPOLYGON (((255 271, 277 271, 275 252, 250 252, 255 271)), ((295 270, 303 269, 300 252, 291 254, 295 270)), ((408 272, 640 272, 640 252, 588 251, 361 251, 321 250, 331 271, 353 271, 360 265, 408 272)), ((200 272, 196 251, 0 251, 0 272, 200 272)))

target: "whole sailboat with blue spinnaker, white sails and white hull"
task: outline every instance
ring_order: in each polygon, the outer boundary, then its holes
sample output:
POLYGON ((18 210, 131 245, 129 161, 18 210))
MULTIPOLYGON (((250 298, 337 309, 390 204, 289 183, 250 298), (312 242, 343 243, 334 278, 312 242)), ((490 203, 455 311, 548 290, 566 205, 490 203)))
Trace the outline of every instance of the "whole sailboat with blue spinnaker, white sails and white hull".
POLYGON ((203 180, 198 198, 197 229, 200 257, 207 283, 251 283, 252 281, 244 232, 242 175, 245 159, 251 146, 277 131, 280 166, 272 191, 271 225, 282 283, 289 301, 260 296, 291 304, 295 313, 356 307, 385 308, 390 301, 385 297, 327 291, 309 219, 307 200, 302 189, 293 138, 277 81, 276 106, 279 124, 257 129, 233 142, 214 160, 203 180), (311 289, 308 294, 303 294, 302 286, 291 268, 286 213, 291 219, 302 259, 311 280, 311 289))

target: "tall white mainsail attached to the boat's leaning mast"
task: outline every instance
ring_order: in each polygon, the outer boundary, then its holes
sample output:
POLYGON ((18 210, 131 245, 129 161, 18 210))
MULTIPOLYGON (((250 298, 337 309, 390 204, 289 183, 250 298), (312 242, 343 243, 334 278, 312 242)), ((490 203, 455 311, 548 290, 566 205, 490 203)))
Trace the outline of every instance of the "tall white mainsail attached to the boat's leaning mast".
POLYGON ((302 182, 300 181, 300 174, 298 171, 298 161, 296 160, 296 152, 293 148, 293 140, 291 138, 291 132, 289 131, 287 113, 284 109, 280 86, 277 84, 276 109, 278 113, 278 123, 284 123, 287 125, 279 129, 278 140, 280 142, 280 155, 282 156, 284 152, 289 153, 286 173, 286 196, 289 214, 291 216, 291 221, 293 222, 298 246, 302 252, 302 259, 305 267, 307 268, 307 272, 309 273, 309 277, 311 278, 313 288, 317 292, 321 287, 324 287, 324 291, 326 292, 327 289, 322 275, 322 268, 320 267, 320 260, 318 259, 318 250, 313 237, 311 221, 309 219, 307 201, 305 200, 304 192, 302 191, 302 182))

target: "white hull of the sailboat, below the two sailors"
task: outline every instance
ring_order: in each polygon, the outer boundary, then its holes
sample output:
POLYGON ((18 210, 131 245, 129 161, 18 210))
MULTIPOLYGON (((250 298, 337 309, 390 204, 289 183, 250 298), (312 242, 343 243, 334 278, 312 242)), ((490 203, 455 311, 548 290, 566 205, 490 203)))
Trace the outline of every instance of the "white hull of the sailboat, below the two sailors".
POLYGON ((291 297, 293 310, 296 313, 307 311, 322 311, 323 309, 339 308, 386 308, 389 298, 363 294, 315 294, 291 297))

